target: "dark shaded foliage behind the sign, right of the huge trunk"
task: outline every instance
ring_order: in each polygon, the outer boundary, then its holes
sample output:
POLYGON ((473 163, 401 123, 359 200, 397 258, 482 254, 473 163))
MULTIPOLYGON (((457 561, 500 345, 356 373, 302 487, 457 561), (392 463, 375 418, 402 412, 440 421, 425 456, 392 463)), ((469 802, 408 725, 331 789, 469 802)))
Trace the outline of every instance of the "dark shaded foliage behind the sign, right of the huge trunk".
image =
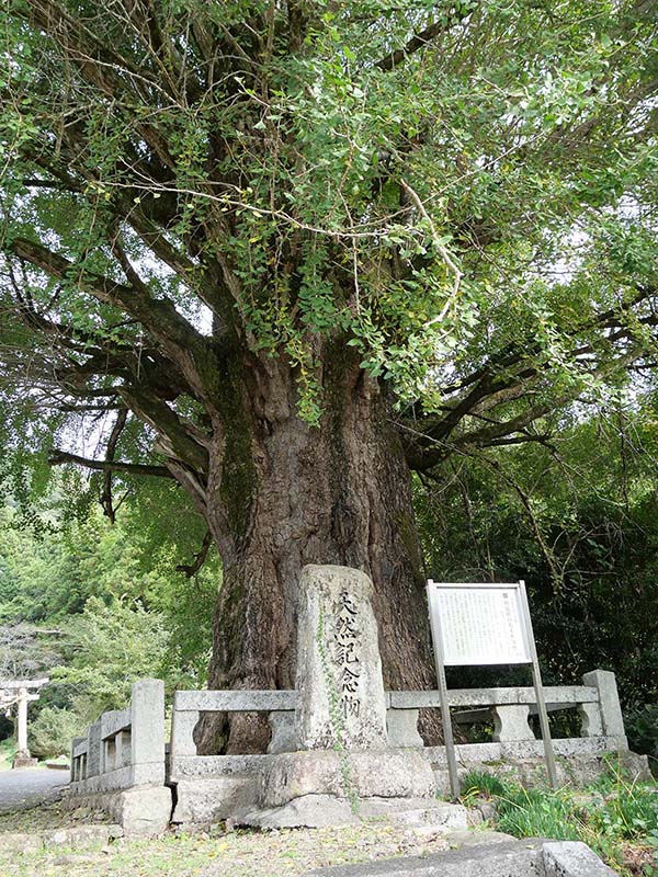
MULTIPOLYGON (((463 457, 417 506, 428 574, 525 579, 547 684, 617 675, 634 749, 658 754, 656 400, 563 420, 549 446, 463 457)), ((455 684, 527 684, 524 671, 452 671, 455 684)))

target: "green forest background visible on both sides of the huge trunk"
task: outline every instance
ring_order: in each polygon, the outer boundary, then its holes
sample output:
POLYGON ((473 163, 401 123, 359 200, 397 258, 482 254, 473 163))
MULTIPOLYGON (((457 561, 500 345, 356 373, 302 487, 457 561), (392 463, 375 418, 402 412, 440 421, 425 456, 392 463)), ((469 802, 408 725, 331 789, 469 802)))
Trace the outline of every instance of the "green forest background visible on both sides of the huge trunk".
MULTIPOLYGON (((633 749, 658 756, 658 418, 654 390, 556 414, 548 445, 454 460, 415 481, 428 577, 525 578, 546 684, 617 674, 633 749), (558 429, 555 429, 558 428, 558 429)), ((204 524, 175 486, 122 477, 114 523, 102 476, 54 477, 43 456, 4 472, 0 674, 47 673, 31 747, 46 758, 140 676, 203 687, 220 562, 196 568, 204 524)), ((453 669, 454 685, 527 684, 523 670, 453 669)), ((559 728, 556 728, 559 733, 559 728)), ((0 739, 9 737, 9 720, 0 739)))

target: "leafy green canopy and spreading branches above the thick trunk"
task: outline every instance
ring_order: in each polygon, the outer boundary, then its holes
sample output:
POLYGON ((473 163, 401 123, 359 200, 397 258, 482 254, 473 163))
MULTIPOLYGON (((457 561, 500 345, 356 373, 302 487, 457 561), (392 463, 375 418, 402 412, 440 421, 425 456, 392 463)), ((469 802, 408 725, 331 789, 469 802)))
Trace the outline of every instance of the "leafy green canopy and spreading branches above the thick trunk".
POLYGON ((650 348, 651 2, 5 13, 5 414, 49 412, 34 443, 125 407, 112 459, 203 471, 222 345, 286 358, 319 423, 338 337, 427 468, 650 348))

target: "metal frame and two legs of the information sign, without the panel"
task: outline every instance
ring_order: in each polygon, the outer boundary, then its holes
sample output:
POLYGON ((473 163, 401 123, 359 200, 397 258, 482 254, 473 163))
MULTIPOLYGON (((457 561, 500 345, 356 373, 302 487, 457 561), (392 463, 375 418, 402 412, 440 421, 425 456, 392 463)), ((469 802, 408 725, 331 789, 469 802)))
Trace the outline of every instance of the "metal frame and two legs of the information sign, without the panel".
MULTIPOLYGON (((514 660, 509 664, 498 664, 498 665, 511 665, 512 663, 519 665, 530 665, 532 668, 532 681, 535 691, 536 697, 536 705, 537 705, 537 713, 540 716, 540 727, 542 730, 542 740, 544 743, 544 758, 546 760, 546 770, 548 773, 548 782, 552 788, 557 788, 557 771, 555 765, 555 753, 553 751, 553 741, 551 739, 551 729, 548 726, 548 713, 546 710, 546 701, 544 697, 544 686, 542 683, 542 674, 540 671, 540 661, 537 657, 536 645, 534 640, 534 633, 532 628, 532 618, 530 615, 530 605, 527 602, 527 593, 525 590, 525 582, 523 579, 520 579, 518 582, 435 582, 433 579, 428 579, 427 583, 427 595, 428 595, 428 611, 430 614, 430 627, 432 631, 432 640, 434 645, 434 663, 436 667, 436 680, 439 683, 439 703, 441 706, 441 717, 443 720, 443 737, 445 743, 445 755, 447 759, 447 770, 450 774, 450 786, 451 791, 455 798, 460 796, 460 777, 457 774, 457 759, 455 752, 455 742, 453 736, 453 728, 452 728, 452 719, 450 715, 450 701, 447 694, 447 684, 445 681, 445 638, 443 629, 445 625, 442 624, 442 618, 440 612, 438 612, 438 605, 433 597, 433 594, 438 594, 438 589, 440 588, 452 588, 452 589, 514 589, 518 595, 519 604, 518 608, 520 611, 519 620, 522 625, 522 636, 524 640, 524 646, 526 647, 526 658, 524 660, 514 660)), ((487 664, 494 665, 491 661, 470 661, 467 664, 456 664, 452 661, 450 662, 450 667, 486 667, 487 664)))

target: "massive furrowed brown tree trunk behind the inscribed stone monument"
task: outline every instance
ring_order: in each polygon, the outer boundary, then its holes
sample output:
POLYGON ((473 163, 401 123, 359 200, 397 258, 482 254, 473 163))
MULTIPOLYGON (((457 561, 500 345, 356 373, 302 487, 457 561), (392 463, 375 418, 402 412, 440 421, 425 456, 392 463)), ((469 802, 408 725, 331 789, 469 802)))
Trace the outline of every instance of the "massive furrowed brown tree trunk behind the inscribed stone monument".
MULTIPOLYGON (((410 474, 381 388, 343 356, 326 356, 324 415, 296 412, 287 365, 232 372, 226 440, 212 453, 208 516, 224 562, 209 672, 212 687, 295 683, 296 605, 306 563, 356 567, 372 577, 384 681, 431 687, 424 574, 410 474), (226 462, 225 462, 226 460, 226 462)), ((202 747, 218 745, 206 724, 202 747)), ((229 751, 259 751, 266 731, 231 722, 229 751)))

